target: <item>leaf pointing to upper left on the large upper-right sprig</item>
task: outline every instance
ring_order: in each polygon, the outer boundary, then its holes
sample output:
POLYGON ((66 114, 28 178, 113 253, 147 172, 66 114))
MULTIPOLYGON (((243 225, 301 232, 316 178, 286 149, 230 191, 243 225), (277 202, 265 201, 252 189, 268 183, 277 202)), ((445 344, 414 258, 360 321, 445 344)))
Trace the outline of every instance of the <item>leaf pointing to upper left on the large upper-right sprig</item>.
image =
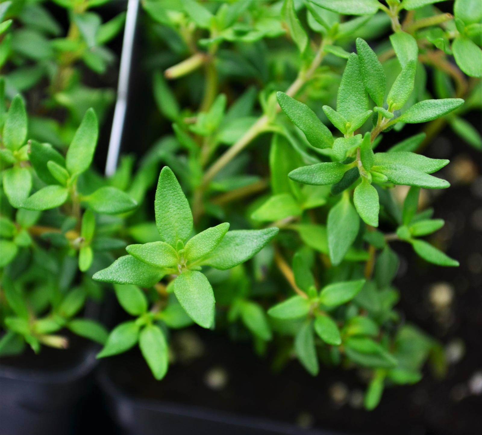
POLYGON ((313 110, 284 92, 277 92, 276 96, 283 112, 305 134, 313 147, 330 148, 333 145, 330 130, 318 119, 313 110))

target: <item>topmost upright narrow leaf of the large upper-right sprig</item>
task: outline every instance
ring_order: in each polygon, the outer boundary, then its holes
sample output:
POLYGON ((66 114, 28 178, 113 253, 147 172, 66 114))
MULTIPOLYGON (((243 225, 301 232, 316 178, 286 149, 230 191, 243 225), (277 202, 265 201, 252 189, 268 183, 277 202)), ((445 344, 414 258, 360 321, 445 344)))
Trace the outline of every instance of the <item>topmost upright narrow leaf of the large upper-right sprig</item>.
POLYGON ((362 38, 357 38, 356 45, 363 83, 372 100, 375 101, 377 106, 381 107, 383 106, 387 88, 387 78, 385 77, 382 64, 375 52, 362 38))

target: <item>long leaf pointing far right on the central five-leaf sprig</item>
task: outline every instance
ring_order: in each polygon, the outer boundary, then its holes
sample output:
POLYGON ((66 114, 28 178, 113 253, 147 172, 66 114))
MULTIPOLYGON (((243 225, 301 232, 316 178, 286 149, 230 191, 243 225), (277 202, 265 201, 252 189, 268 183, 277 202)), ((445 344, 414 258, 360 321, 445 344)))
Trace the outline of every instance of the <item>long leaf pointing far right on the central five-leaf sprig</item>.
POLYGON ((201 264, 227 270, 253 258, 278 234, 278 228, 228 231, 217 247, 201 264))

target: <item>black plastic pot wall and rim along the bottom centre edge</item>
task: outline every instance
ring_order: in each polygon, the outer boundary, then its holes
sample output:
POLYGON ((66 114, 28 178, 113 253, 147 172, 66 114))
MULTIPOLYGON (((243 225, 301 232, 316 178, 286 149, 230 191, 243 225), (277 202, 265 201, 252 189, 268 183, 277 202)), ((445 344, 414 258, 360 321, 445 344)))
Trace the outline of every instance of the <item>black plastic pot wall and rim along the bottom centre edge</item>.
POLYGON ((335 435, 213 409, 130 397, 102 365, 97 381, 110 418, 122 435, 335 435))

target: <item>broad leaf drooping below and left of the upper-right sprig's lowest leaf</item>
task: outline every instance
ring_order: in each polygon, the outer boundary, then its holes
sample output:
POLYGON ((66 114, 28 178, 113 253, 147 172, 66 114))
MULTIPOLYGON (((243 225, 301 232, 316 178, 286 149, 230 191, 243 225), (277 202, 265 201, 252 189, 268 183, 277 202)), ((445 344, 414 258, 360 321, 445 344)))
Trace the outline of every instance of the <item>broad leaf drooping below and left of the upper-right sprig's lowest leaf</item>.
POLYGON ((344 195, 328 213, 328 249, 333 265, 340 264, 353 244, 360 228, 360 218, 351 205, 348 195, 344 195))

